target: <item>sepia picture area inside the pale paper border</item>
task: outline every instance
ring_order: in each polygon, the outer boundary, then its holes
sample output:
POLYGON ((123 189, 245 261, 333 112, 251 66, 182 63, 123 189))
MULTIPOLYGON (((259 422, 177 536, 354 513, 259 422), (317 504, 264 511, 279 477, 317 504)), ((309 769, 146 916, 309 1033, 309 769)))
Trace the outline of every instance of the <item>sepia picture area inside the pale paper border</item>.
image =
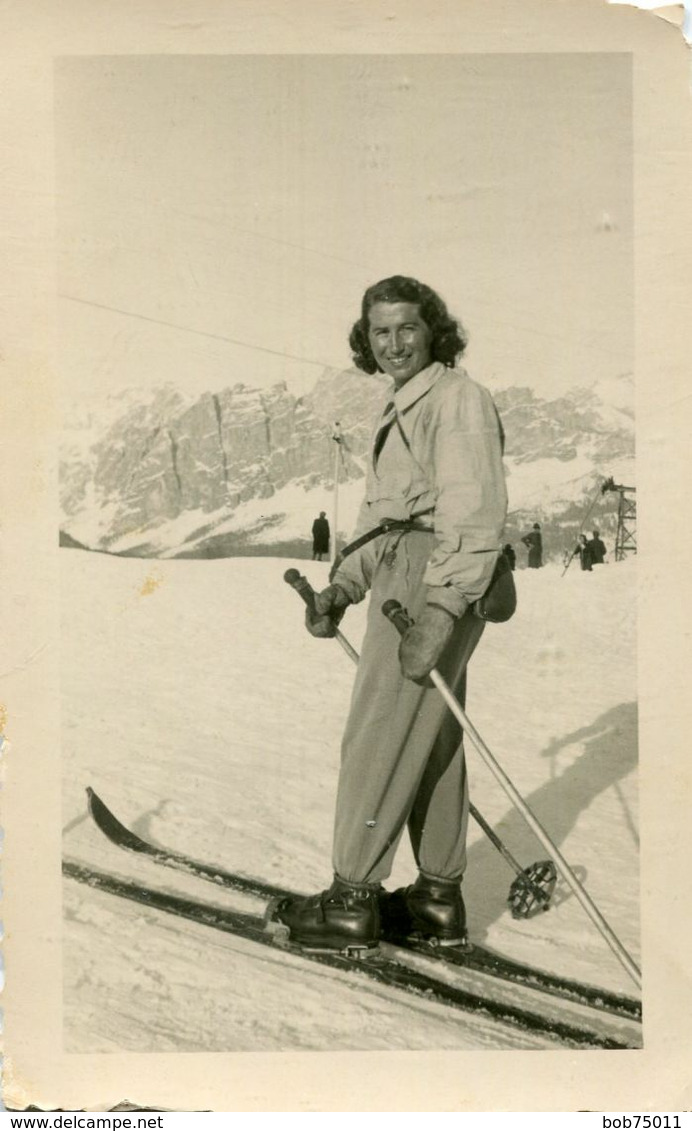
POLYGON ((66 1052, 641 1048, 632 113, 55 60, 66 1052))

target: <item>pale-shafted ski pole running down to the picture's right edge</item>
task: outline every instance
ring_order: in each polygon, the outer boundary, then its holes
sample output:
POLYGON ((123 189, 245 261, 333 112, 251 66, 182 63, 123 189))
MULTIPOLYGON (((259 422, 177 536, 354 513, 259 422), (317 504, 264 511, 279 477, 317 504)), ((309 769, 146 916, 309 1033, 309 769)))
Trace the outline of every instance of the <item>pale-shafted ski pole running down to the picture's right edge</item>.
MULTIPOLYGON (((391 621, 391 623, 395 625, 400 636, 404 636, 406 630, 410 628, 410 625, 413 624, 410 616, 408 615, 406 610, 401 607, 398 601, 386 601, 384 604, 382 605, 382 612, 384 613, 384 616, 387 616, 387 619, 391 621)), ((507 793, 510 801, 513 802, 513 804, 519 810, 519 812, 524 817, 525 821, 527 822, 531 831, 535 834, 535 836, 538 838, 543 847, 550 854, 551 858, 554 861, 555 865, 559 867, 563 879, 566 881, 569 887, 577 896, 577 899, 583 907, 585 912, 587 913, 591 922, 598 927, 598 930, 600 931, 603 938, 607 942, 613 953, 620 959, 621 964, 624 966, 625 970, 628 972, 632 981, 635 983, 638 988, 641 990, 641 970, 635 965, 630 953, 625 950, 625 948, 623 947, 622 942, 620 941, 615 932, 607 924, 607 922, 596 907, 596 904, 594 903, 587 890, 579 882, 579 880, 574 875, 574 872, 568 864, 566 860, 564 858, 557 846, 554 844, 554 841, 551 839, 548 834, 540 824, 538 818, 531 812, 531 810, 525 802, 519 791, 516 788, 510 778, 507 776, 507 774, 504 772, 504 770, 502 769, 495 757, 491 753, 485 742, 483 741, 483 739, 476 731, 475 726, 470 722, 468 715, 461 707, 460 702, 452 694, 450 688, 444 682, 444 680, 442 679, 442 676, 440 675, 440 673, 435 667, 433 667, 432 672, 430 673, 430 677, 434 683, 434 685, 436 687, 440 694, 442 696, 442 698, 444 699, 444 702, 451 710, 455 718, 464 727, 465 734, 468 734, 468 736, 473 741, 476 750, 483 758, 484 762, 486 763, 491 772, 495 776, 495 778, 507 793)))

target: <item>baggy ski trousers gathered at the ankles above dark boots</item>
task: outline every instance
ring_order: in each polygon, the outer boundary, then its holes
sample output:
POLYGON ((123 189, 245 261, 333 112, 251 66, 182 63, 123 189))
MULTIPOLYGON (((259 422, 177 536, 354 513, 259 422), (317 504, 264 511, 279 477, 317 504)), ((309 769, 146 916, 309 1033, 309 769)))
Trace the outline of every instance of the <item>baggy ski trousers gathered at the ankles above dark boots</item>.
MULTIPOLYGON (((406 826, 422 872, 458 879, 466 866, 468 785, 461 727, 432 684, 421 687, 401 675, 400 637, 381 611, 393 597, 414 620, 419 615, 432 546, 431 533, 386 535, 372 578, 341 745, 334 835, 334 870, 352 883, 387 879, 406 826)), ((466 665, 484 628, 468 610, 438 664, 461 705, 466 665)))

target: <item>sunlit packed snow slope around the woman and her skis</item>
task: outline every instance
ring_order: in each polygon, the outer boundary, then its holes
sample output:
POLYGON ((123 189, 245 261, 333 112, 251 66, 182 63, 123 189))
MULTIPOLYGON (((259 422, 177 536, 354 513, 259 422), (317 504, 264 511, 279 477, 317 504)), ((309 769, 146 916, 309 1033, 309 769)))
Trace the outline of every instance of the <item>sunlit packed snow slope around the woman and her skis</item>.
MULTIPOLYGON (((328 566, 73 550, 61 562, 66 857, 260 909, 109 844, 87 815, 92 785, 156 844, 296 890, 328 884, 354 668, 335 641, 304 631, 283 581, 297 566, 321 587, 328 566)), ((638 960, 635 562, 521 569, 516 579, 516 616, 488 625, 472 661, 468 713, 638 960)), ((356 647, 364 612, 343 623, 356 647)), ((545 858, 468 743, 467 757, 481 812, 524 864, 545 858)), ((390 882, 414 874, 403 844, 390 882)), ((563 882, 547 914, 513 920, 512 878, 472 823, 464 891, 476 942, 635 995, 563 882)), ((64 892, 70 1052, 560 1046, 70 879, 64 892)))

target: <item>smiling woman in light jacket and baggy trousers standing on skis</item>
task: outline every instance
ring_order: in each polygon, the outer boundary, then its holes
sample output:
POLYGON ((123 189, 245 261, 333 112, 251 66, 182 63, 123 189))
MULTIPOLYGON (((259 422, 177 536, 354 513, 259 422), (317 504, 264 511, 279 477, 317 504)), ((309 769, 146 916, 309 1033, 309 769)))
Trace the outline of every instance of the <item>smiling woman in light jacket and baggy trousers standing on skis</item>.
POLYGON ((455 369, 465 344, 442 299, 403 276, 367 288, 351 334, 356 364, 393 378, 395 390, 373 432, 354 537, 306 619, 312 636, 334 637, 370 593, 341 744, 334 883, 273 909, 277 930, 306 949, 369 952, 412 933, 442 947, 466 939, 464 745, 427 676, 440 665, 464 701, 484 629, 472 605, 498 560, 507 491, 493 400, 455 369), (413 616, 400 646, 380 612, 391 599, 413 616), (406 827, 418 877, 384 891, 406 827))

